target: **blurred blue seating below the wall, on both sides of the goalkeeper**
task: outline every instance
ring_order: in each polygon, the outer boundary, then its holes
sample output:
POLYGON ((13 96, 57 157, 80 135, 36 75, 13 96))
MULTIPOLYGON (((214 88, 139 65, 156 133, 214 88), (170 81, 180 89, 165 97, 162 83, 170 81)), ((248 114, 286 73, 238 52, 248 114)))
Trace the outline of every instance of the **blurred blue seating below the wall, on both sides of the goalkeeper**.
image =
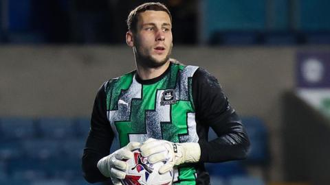
MULTIPOLYGON (((246 182, 243 184, 262 183, 261 179, 248 176, 246 167, 267 164, 267 129, 256 117, 243 117, 243 124, 252 143, 248 159, 206 164, 212 184, 234 185, 240 180, 246 182)), ((81 158, 89 119, 3 118, 0 128, 0 184, 87 184, 81 158)), ((216 134, 210 130, 210 140, 214 137, 216 134)), ((115 143, 111 151, 117 148, 115 143)))

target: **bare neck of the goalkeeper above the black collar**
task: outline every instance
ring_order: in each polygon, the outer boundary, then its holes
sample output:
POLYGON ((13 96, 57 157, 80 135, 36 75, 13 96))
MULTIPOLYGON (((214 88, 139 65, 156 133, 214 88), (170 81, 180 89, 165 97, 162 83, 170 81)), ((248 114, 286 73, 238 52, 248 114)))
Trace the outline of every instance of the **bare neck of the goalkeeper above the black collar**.
POLYGON ((136 64, 137 75, 139 75, 141 79, 153 79, 162 75, 169 65, 170 60, 168 60, 168 62, 166 62, 164 65, 159 66, 157 68, 148 68, 140 64, 136 64))

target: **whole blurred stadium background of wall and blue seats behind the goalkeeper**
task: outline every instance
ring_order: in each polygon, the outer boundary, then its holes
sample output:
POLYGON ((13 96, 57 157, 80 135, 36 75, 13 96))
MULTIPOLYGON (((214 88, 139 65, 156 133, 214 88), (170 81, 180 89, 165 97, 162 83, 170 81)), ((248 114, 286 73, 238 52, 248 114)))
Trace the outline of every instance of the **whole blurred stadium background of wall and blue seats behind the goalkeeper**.
MULTIPOLYGON (((144 2, 0 1, 0 184, 88 184, 94 98, 134 69, 125 20, 144 2)), ((329 184, 330 1, 160 2, 172 57, 219 79, 252 143, 247 160, 207 164, 211 184, 329 184)))

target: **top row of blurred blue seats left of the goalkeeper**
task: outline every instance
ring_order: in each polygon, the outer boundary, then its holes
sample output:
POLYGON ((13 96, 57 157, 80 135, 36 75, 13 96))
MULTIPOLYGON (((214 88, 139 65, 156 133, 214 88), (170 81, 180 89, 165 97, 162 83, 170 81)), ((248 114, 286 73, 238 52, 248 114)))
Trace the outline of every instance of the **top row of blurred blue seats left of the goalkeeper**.
POLYGON ((6 141, 28 138, 81 138, 87 136, 89 124, 87 118, 8 117, 0 119, 0 138, 6 141))

